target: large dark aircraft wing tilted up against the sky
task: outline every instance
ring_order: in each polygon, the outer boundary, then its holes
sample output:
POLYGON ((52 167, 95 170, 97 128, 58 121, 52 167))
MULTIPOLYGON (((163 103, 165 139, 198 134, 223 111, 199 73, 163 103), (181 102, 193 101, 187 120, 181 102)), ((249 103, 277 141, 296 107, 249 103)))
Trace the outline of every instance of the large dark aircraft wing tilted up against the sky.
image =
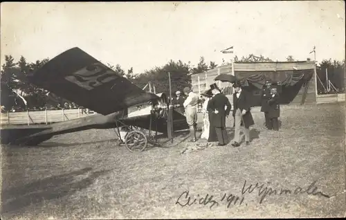
POLYGON ((51 59, 28 80, 102 115, 158 98, 77 47, 51 59))

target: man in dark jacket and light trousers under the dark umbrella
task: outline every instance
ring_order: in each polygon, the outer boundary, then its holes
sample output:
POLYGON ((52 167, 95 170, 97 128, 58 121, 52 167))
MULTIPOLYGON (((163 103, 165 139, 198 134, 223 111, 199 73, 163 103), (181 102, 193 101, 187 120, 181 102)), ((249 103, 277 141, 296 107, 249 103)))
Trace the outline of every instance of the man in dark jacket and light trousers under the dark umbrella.
POLYGON ((240 145, 240 129, 243 128, 246 145, 250 144, 250 126, 255 125, 251 115, 251 94, 242 90, 239 82, 233 84, 235 93, 233 94, 233 117, 235 118, 235 138, 233 147, 240 145), (242 127, 243 126, 243 127, 242 127))

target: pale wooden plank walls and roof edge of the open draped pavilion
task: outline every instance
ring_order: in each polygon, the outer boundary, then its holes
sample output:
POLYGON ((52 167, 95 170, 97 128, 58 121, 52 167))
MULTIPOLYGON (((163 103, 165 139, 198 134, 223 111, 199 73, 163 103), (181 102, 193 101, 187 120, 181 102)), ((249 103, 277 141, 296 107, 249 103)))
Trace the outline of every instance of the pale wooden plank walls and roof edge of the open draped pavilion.
MULTIPOLYGON (((202 93, 204 90, 209 89, 210 84, 215 83, 214 79, 219 74, 232 74, 236 77, 244 78, 251 75, 264 73, 266 77, 271 78, 273 81, 280 81, 286 78, 286 75, 293 73, 311 73, 312 77, 309 80, 307 88, 302 86, 300 91, 295 96, 292 104, 300 104, 303 100, 303 94, 306 93, 304 98, 304 104, 315 104, 316 103, 316 75, 314 74, 315 62, 304 61, 304 62, 235 62, 235 69, 232 70, 232 64, 224 66, 218 66, 215 69, 206 71, 203 73, 197 73, 191 75, 192 90, 195 93, 202 93)), ((232 95, 232 89, 228 82, 217 82, 221 90, 228 95, 232 95)), ((254 95, 260 95, 260 91, 257 91, 254 95)), ((232 101, 232 99, 230 99, 232 101)))

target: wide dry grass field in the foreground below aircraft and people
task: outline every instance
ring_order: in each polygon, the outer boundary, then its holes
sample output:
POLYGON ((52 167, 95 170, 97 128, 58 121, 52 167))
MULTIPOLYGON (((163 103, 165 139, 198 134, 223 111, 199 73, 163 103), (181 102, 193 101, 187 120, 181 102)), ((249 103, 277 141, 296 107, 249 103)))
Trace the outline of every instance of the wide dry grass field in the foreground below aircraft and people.
POLYGON ((252 143, 237 148, 180 154, 183 142, 134 154, 116 145, 113 129, 65 134, 39 147, 2 147, 1 219, 344 217, 344 104, 284 106, 280 131, 263 129, 264 116, 254 109, 252 143), (264 184, 262 194, 242 194, 244 181, 264 184), (313 181, 314 193, 329 198, 311 194, 313 187, 294 193, 313 181), (270 194, 269 187, 291 194, 270 194), (185 191, 190 203, 209 199, 185 205, 185 191))

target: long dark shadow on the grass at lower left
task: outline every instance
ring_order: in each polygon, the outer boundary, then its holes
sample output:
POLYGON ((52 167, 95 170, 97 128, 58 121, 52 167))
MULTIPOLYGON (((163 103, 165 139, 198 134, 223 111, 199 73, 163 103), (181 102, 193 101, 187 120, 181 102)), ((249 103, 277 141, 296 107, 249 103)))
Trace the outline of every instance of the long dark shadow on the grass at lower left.
POLYGON ((15 212, 31 204, 69 196, 91 185, 95 178, 111 171, 111 169, 95 172, 91 172, 91 170, 91 167, 87 167, 3 190, 1 210, 2 212, 15 212), (75 181, 75 176, 86 174, 86 177, 75 181))

